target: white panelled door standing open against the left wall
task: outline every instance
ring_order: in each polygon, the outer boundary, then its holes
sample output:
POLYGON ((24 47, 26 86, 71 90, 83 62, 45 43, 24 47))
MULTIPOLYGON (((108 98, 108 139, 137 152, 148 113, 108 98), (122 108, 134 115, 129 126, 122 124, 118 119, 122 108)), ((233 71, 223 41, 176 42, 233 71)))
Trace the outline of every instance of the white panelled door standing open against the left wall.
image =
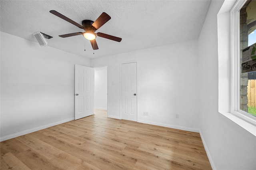
POLYGON ((75 120, 93 114, 93 69, 75 65, 75 120))

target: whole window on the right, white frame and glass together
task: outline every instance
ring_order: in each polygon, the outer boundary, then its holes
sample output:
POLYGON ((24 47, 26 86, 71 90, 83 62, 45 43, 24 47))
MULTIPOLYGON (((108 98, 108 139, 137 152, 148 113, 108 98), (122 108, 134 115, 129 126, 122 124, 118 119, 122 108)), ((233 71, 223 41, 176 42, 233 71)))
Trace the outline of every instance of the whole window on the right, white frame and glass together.
POLYGON ((231 112, 256 123, 256 1, 238 0, 232 17, 231 112), (254 68, 255 67, 255 68, 254 68))

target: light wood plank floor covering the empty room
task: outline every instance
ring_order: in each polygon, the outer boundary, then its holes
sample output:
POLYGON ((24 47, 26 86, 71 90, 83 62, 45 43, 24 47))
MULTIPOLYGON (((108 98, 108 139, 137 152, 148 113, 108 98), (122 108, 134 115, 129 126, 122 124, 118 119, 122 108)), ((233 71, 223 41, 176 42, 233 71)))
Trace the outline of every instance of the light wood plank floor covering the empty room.
POLYGON ((199 133, 111 119, 104 110, 0 147, 1 170, 212 169, 199 133))

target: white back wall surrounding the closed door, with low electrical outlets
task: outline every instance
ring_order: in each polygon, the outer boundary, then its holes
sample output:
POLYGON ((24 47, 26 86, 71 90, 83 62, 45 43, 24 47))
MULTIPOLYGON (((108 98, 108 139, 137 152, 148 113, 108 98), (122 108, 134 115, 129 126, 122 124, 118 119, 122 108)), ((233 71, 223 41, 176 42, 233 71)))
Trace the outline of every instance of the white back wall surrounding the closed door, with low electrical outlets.
POLYGON ((130 61, 137 62, 138 121, 199 131, 198 41, 92 59, 92 67, 108 65, 109 117, 120 119, 120 64, 130 61))

